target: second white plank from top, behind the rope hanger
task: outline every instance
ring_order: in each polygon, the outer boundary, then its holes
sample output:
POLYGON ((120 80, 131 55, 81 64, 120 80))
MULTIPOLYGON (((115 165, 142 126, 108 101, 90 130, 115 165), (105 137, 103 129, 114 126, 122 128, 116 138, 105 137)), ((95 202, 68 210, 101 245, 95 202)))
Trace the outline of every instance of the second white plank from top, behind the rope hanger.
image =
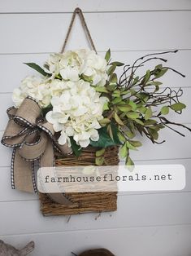
MULTIPOLYGON (((0 15, 0 53, 59 51, 70 19, 71 14, 0 15)), ((190 11, 86 13, 85 19, 98 51, 189 49, 191 45, 190 11)), ((85 46, 77 22, 68 47, 85 46)))

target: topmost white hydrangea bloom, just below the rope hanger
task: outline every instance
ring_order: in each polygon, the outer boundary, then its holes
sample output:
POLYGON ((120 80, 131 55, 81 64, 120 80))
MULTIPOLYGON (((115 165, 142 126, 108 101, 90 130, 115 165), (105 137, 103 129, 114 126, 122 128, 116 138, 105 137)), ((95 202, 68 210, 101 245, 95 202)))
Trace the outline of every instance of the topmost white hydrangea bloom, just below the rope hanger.
POLYGON ((107 79, 106 60, 88 49, 50 55, 46 66, 46 72, 51 73, 52 78, 60 75, 65 81, 83 79, 93 86, 104 86, 107 79))

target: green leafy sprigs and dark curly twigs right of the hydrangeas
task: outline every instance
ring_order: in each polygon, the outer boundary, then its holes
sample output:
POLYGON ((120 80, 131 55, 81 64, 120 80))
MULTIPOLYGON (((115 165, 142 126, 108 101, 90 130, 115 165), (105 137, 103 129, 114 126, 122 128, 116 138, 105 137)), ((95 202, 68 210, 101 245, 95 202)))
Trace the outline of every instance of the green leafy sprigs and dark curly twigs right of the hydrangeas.
MULTIPOLYGON (((105 95, 109 101, 105 105, 104 119, 100 121, 102 128, 99 131, 100 138, 97 142, 91 142, 92 146, 106 148, 111 145, 120 145, 120 156, 126 159, 128 166, 133 165, 130 150, 137 150, 141 142, 135 140, 137 133, 145 135, 152 143, 158 142, 159 130, 167 127, 179 135, 180 131, 171 126, 181 126, 191 131, 187 126, 169 121, 167 114, 171 111, 181 114, 186 108, 180 102, 183 90, 172 90, 170 87, 163 88, 159 78, 167 71, 184 75, 174 68, 163 65, 167 60, 160 57, 177 51, 166 51, 142 56, 132 65, 124 65, 118 61, 111 62, 111 51, 106 52, 105 59, 108 63, 108 80, 104 87, 95 87, 95 90, 105 95), (139 68, 151 60, 159 60, 162 64, 146 70, 143 76, 138 76, 139 68), (117 77, 115 69, 124 66, 124 72, 117 77)), ((98 151, 96 163, 102 165, 104 162, 104 150, 98 151)))

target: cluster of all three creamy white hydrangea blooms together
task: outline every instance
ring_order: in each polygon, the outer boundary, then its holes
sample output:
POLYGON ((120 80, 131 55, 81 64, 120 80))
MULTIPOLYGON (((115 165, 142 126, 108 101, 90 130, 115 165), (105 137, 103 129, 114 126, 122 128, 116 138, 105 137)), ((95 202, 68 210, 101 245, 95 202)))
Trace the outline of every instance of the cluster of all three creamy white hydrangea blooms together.
POLYGON ((107 98, 95 87, 106 84, 106 60, 90 50, 67 51, 50 55, 44 67, 45 77, 26 77, 14 90, 15 107, 27 96, 36 99, 41 108, 52 107, 46 120, 60 133, 62 145, 71 145, 71 137, 82 148, 90 139, 98 141, 107 98))

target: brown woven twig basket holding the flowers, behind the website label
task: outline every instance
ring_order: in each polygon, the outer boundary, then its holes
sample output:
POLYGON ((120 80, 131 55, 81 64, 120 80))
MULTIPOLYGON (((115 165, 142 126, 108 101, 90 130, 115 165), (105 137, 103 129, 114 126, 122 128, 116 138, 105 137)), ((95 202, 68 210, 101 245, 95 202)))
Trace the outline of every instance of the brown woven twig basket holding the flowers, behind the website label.
MULTIPOLYGON (((108 147, 104 154, 105 166, 117 166, 119 163, 118 147, 108 147)), ((90 166, 95 163, 95 152, 98 148, 85 148, 80 157, 70 155, 56 156, 56 166, 90 166)), ((87 212, 102 212, 117 210, 117 192, 79 192, 67 193, 73 202, 72 205, 61 205, 50 199, 46 194, 39 194, 41 213, 50 215, 71 215, 87 212)))

